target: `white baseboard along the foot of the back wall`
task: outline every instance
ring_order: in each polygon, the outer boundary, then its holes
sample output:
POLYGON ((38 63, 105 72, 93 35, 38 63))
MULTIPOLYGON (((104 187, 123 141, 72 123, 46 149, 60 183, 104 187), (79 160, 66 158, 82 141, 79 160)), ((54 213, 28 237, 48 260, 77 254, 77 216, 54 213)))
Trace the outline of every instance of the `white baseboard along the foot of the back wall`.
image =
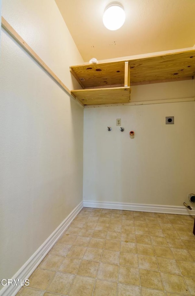
POLYGON ((83 207, 165 213, 165 214, 192 215, 192 216, 195 215, 194 209, 188 210, 184 206, 180 207, 180 206, 168 206, 168 205, 158 205, 158 204, 129 204, 129 203, 119 203, 119 202, 100 202, 100 201, 83 200, 83 207))

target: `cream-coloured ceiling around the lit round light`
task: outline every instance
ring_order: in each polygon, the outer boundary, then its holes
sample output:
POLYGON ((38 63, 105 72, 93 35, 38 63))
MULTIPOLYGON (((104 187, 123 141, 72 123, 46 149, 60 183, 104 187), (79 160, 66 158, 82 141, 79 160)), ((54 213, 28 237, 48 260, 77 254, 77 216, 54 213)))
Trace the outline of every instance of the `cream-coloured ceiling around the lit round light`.
POLYGON ((118 0, 126 21, 117 31, 102 22, 112 0, 55 0, 85 62, 193 47, 195 0, 118 0))

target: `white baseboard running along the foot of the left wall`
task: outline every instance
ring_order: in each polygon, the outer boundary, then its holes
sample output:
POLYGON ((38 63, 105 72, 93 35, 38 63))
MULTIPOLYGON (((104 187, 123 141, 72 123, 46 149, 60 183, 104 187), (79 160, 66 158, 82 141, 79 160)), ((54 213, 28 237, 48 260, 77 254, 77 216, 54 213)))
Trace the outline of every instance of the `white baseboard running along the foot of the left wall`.
MULTIPOLYGON (((18 272, 12 277, 12 279, 21 279, 22 284, 25 279, 34 272, 37 266, 41 263, 43 258, 47 255, 50 249, 59 240, 63 232, 70 225, 76 215, 83 208, 83 201, 80 202, 73 209, 73 211, 64 219, 64 221, 54 230, 54 232, 46 239, 46 241, 40 246, 40 248, 29 258, 29 260, 19 269, 18 272)), ((0 296, 15 296, 21 289, 21 286, 5 286, 0 290, 0 296)))

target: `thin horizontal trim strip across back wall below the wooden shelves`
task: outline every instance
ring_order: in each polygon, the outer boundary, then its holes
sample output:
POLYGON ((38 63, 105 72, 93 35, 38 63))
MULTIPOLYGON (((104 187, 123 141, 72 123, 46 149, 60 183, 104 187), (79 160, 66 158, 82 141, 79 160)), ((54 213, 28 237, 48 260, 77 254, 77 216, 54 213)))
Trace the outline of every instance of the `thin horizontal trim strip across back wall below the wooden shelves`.
POLYGON ((84 109, 102 108, 102 107, 118 107, 118 106, 137 106, 137 105, 150 105, 150 104, 163 104, 163 103, 180 103, 180 102, 193 102, 195 98, 183 99, 165 99, 165 100, 152 100, 152 101, 139 101, 129 103, 115 103, 115 104, 102 104, 102 105, 86 105, 84 109))

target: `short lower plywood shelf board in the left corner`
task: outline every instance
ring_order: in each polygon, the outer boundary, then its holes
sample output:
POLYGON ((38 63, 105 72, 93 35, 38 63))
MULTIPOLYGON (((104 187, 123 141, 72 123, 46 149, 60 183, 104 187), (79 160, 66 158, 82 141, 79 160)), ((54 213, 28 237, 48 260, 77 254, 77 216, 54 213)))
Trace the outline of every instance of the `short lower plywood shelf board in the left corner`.
POLYGON ((130 101, 130 87, 97 88, 72 90, 84 105, 100 105, 113 103, 128 103, 130 101))

